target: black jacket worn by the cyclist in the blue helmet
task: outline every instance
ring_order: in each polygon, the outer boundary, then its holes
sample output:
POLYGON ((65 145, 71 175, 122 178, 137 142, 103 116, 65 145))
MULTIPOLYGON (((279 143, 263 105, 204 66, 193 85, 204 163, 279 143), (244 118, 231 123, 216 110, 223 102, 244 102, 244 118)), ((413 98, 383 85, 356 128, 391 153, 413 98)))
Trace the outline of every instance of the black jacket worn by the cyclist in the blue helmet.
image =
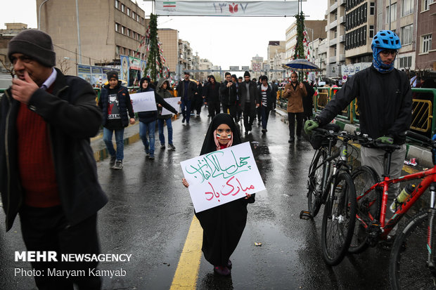
POLYGON ((382 74, 372 65, 347 80, 317 117, 320 125, 328 124, 354 98, 359 105, 361 133, 371 138, 392 136, 396 144, 405 142, 404 132, 412 117, 412 93, 404 72, 392 70, 382 74))

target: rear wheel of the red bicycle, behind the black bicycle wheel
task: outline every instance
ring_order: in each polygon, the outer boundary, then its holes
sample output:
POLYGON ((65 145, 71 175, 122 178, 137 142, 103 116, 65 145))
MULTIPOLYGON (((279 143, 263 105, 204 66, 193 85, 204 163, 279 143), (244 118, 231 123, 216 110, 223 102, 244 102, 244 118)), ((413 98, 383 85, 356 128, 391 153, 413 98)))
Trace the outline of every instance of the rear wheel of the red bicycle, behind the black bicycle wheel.
MULTIPOLYGON (((363 195, 372 185, 378 183, 376 171, 368 166, 357 167, 352 172, 352 178, 357 197, 363 195)), ((348 248, 349 253, 361 253, 368 247, 366 225, 369 225, 375 217, 380 216, 381 198, 381 190, 377 188, 357 201, 357 216, 361 220, 356 218, 353 237, 348 248)))

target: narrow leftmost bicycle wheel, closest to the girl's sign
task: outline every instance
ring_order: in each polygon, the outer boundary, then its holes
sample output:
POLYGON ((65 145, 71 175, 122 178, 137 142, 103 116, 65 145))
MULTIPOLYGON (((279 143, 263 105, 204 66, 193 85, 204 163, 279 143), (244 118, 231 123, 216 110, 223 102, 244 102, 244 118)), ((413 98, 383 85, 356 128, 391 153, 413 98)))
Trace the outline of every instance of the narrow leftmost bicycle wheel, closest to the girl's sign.
POLYGON ((326 168, 326 164, 319 166, 326 159, 326 152, 324 150, 318 150, 314 161, 310 166, 309 180, 307 180, 307 205, 309 211, 314 218, 321 208, 321 183, 323 182, 323 171, 326 168), (316 167, 319 168, 317 169, 316 167))

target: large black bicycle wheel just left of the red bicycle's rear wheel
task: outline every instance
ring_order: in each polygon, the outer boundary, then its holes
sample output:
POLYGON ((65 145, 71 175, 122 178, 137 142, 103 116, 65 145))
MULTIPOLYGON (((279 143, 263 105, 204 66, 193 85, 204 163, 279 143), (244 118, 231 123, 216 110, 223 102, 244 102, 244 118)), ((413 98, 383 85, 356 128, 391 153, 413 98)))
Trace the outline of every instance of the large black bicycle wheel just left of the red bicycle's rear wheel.
POLYGON ((347 253, 356 220, 356 192, 350 173, 341 172, 333 184, 333 196, 324 207, 321 228, 323 258, 328 265, 338 265, 347 253))

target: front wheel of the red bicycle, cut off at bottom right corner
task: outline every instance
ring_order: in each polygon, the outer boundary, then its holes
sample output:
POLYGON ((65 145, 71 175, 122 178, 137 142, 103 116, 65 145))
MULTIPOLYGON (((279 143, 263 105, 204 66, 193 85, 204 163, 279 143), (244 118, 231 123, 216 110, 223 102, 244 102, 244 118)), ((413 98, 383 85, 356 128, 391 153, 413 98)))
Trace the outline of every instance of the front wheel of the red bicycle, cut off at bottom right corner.
POLYGON ((428 254, 435 263, 435 215, 421 211, 398 234, 390 252, 389 279, 392 289, 435 289, 435 265, 429 267, 428 254), (433 217, 433 218, 432 218, 433 217), (431 223, 431 225, 430 225, 431 223), (428 235, 432 228, 431 244, 428 235))

